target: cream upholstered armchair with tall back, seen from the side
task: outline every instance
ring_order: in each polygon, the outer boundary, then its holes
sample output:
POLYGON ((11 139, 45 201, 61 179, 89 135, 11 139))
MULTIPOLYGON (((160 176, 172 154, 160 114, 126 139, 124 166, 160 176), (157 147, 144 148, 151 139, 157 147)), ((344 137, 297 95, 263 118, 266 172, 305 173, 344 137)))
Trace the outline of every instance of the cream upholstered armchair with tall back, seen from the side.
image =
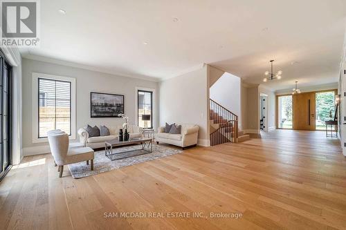
POLYGON ((62 177, 64 165, 66 164, 73 164, 83 161, 86 161, 86 164, 89 164, 90 160, 91 170, 93 170, 93 149, 89 147, 69 148, 69 135, 62 131, 48 132, 48 141, 49 146, 51 147, 51 153, 53 155, 55 164, 59 166, 57 171, 60 172, 60 178, 62 177))

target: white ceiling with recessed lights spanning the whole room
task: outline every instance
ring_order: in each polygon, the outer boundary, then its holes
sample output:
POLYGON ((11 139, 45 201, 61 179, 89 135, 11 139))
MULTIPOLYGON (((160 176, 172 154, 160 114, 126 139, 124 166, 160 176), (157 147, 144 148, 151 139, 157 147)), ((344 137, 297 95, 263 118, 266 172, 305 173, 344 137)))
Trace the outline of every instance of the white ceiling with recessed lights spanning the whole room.
POLYGON ((337 81, 345 19, 345 0, 44 0, 41 46, 22 52, 159 79, 207 63, 252 84, 275 59, 280 90, 337 81))

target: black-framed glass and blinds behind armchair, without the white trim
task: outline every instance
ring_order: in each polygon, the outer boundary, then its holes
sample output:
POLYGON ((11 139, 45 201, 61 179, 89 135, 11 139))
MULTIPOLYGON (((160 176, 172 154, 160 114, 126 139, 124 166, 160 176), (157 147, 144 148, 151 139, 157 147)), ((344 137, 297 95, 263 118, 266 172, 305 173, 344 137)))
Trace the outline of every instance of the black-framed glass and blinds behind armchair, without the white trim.
POLYGON ((38 138, 61 129, 71 135, 71 82, 38 78, 38 138))

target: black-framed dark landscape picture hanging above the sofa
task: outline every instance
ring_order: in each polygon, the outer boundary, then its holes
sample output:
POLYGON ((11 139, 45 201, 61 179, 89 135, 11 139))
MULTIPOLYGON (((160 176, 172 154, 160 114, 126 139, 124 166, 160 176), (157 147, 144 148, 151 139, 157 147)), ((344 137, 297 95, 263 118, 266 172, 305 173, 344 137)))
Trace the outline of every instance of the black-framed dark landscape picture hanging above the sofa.
POLYGON ((125 97, 124 95, 113 93, 97 93, 90 92, 90 117, 121 117, 120 114, 125 112, 125 97), (107 101, 118 100, 116 105, 107 105, 107 101), (96 102, 99 101, 100 105, 96 102), (116 110, 116 111, 114 111, 116 110))

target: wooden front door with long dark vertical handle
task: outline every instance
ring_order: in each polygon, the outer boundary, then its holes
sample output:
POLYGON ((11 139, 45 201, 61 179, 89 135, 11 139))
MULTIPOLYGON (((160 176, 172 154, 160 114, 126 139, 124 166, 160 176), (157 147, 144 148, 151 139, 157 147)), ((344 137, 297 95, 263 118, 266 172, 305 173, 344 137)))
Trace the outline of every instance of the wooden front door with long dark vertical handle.
POLYGON ((316 129, 316 93, 293 95, 293 129, 316 129))

